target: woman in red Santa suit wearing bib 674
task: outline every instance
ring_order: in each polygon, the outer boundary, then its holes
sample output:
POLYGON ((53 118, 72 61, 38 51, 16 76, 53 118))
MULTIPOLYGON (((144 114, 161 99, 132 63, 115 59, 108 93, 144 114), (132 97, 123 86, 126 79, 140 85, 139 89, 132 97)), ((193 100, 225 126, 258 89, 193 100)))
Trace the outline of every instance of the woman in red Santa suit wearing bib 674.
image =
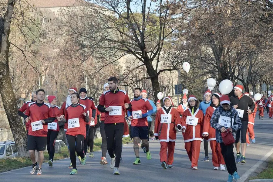
MULTIPOLYGON (((154 136, 160 141, 160 162, 163 169, 172 168, 174 162, 174 146, 176 129, 182 131, 181 118, 178 111, 172 108, 172 99, 163 98, 164 106, 158 110, 154 125, 154 136)), ((183 132, 186 127, 183 126, 183 132)))

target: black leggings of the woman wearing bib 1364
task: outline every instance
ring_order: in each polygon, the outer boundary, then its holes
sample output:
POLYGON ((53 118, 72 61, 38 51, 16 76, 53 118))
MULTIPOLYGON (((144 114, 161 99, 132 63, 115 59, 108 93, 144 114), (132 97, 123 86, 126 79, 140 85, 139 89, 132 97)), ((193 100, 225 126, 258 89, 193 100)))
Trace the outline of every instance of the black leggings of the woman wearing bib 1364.
POLYGON ((84 144, 84 136, 83 135, 66 135, 69 145, 69 153, 70 153, 70 160, 73 166, 73 169, 76 169, 76 154, 81 156, 83 159, 85 157, 85 153, 83 151, 83 144, 84 144))

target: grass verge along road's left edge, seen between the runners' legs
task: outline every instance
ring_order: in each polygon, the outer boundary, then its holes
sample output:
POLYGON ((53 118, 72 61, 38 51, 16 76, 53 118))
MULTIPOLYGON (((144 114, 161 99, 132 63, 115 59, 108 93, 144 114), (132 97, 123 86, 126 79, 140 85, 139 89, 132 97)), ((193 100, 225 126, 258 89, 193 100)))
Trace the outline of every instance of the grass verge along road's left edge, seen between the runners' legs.
MULTIPOLYGON (((98 151, 101 149, 101 139, 94 140, 93 151, 98 151)), ((123 144, 132 143, 129 137, 123 139, 123 144)), ((69 152, 67 147, 62 147, 60 153, 55 153, 53 160, 59 160, 69 157, 69 152)), ((44 162, 47 163, 49 159, 49 154, 47 150, 44 151, 44 162)), ((14 170, 22 167, 31 166, 32 161, 29 157, 16 157, 13 159, 0 159, 0 172, 5 172, 9 170, 14 170)))

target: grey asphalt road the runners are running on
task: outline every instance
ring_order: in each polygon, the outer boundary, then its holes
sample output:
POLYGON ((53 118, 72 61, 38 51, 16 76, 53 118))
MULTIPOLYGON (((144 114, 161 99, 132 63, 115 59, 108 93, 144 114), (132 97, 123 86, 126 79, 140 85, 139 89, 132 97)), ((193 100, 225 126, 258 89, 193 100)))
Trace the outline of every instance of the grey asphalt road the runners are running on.
MULTIPOLYGON (((255 169, 261 159, 264 160, 266 154, 269 155, 273 151, 273 119, 269 119, 265 114, 264 120, 259 120, 258 113, 255 119, 255 144, 247 147, 246 160, 247 163, 237 163, 238 173, 243 177, 244 181, 248 176, 248 171, 255 169), (272 150, 272 151, 271 151, 272 150), (271 152, 271 153, 270 153, 271 152), (256 165, 255 165, 256 164, 256 165), (244 174, 244 175, 243 175, 244 174)), ((109 165, 100 165, 99 160, 101 151, 94 152, 95 157, 87 158, 85 166, 81 166, 77 160, 78 174, 69 175, 71 169, 68 168, 70 159, 54 161, 53 167, 49 167, 47 163, 42 166, 42 175, 31 175, 29 172, 31 167, 25 167, 0 174, 0 181, 20 181, 20 182, 37 182, 37 181, 156 181, 156 182, 172 182, 172 181, 227 181, 227 171, 215 171, 211 162, 211 149, 209 147, 209 162, 203 162, 204 147, 201 143, 201 153, 198 162, 198 170, 190 168, 190 160, 184 149, 184 140, 181 133, 177 134, 175 144, 174 167, 163 170, 159 160, 160 143, 158 141, 150 141, 151 160, 146 159, 146 154, 140 149, 140 165, 133 165, 134 153, 133 144, 123 146, 122 158, 120 163, 120 175, 113 175, 109 165)), ((234 148, 235 153, 235 148, 234 148)), ((107 154, 108 155, 108 154, 107 154)), ((234 154, 235 155, 235 154, 234 154)), ((108 162, 110 158, 108 157, 108 162)))

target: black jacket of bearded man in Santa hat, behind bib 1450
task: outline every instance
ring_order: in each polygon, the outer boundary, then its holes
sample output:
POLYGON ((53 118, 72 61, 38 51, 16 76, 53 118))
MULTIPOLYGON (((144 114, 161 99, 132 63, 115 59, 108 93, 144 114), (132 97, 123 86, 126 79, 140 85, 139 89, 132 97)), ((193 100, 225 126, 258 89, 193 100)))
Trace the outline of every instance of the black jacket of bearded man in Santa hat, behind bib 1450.
POLYGON ((231 104, 230 104, 231 107, 233 105, 238 105, 237 109, 244 110, 244 116, 243 116, 243 118, 240 118, 241 121, 248 121, 248 112, 247 112, 248 107, 252 112, 254 111, 254 108, 255 108, 255 104, 252 101, 252 99, 250 97, 248 97, 247 95, 243 94, 241 99, 239 99, 236 96, 231 96, 230 102, 231 102, 231 104))

